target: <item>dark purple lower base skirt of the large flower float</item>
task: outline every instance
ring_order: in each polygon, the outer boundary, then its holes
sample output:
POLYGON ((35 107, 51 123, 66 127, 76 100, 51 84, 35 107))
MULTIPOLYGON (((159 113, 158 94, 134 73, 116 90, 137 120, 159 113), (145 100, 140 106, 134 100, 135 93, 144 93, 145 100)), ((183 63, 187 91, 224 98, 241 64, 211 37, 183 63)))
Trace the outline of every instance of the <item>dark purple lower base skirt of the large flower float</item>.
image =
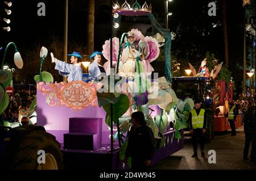
MULTIPOLYGON (((162 159, 179 151, 183 148, 183 131, 181 131, 181 140, 179 142, 174 138, 175 130, 165 132, 166 145, 158 149, 152 159, 151 166, 162 159)), ((110 154, 110 145, 102 145, 96 150, 67 150, 63 149, 65 169, 70 170, 127 170, 129 167, 123 166, 119 159, 119 146, 114 145, 113 155, 110 154)))

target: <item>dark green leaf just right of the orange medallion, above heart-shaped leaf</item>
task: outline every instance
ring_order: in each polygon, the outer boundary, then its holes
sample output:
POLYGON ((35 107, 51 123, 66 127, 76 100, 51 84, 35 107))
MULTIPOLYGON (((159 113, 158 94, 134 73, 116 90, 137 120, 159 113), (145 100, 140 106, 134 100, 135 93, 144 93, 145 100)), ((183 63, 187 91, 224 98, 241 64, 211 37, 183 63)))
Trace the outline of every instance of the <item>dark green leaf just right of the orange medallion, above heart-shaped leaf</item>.
MULTIPOLYGON (((119 96, 119 95, 118 95, 119 96)), ((97 91, 97 98, 98 98, 98 106, 105 106, 106 104, 115 104, 118 102, 119 97, 114 93, 110 92, 98 92, 97 91)))

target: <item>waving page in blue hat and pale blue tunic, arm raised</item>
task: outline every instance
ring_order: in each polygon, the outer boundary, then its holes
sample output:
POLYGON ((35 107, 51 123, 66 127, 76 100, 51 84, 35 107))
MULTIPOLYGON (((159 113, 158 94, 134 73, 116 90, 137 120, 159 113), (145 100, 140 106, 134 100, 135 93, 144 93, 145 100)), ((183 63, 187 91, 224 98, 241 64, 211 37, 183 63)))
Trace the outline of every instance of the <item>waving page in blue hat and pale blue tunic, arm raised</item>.
POLYGON ((56 64, 55 69, 59 70, 59 74, 63 77, 68 77, 68 82, 82 81, 82 68, 81 63, 79 63, 79 58, 82 58, 81 54, 79 52, 73 52, 72 54, 68 54, 68 56, 71 56, 71 64, 58 60, 51 53, 52 63, 55 62, 56 64))

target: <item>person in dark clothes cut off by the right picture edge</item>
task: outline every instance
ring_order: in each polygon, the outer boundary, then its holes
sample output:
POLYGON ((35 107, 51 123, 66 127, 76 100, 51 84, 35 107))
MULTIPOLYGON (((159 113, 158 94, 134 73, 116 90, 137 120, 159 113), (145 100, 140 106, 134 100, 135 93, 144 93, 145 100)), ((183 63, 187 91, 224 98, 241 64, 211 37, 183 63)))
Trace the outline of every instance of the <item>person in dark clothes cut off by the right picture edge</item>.
POLYGON ((255 106, 251 105, 244 116, 245 148, 243 148, 243 160, 247 161, 251 142, 250 161, 255 163, 255 106))

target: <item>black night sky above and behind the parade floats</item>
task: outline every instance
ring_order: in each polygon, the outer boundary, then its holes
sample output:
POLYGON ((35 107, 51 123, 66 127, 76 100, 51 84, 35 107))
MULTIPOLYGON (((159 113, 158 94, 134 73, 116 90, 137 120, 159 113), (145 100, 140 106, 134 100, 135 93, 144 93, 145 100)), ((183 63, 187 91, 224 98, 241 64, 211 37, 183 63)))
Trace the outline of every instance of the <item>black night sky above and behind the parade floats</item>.
MULTIPOLYGON (((2 1, 3 0, 1 0, 1 4, 3 4, 2 1)), ((53 35, 59 37, 60 40, 63 40, 64 0, 13 0, 12 2, 12 14, 10 16, 11 32, 0 31, 1 47, 5 48, 7 43, 14 41, 19 51, 22 53, 22 51, 33 48, 37 44, 42 44, 42 42, 48 40, 49 37, 53 35), (46 16, 38 16, 37 12, 39 7, 37 6, 39 2, 44 2, 46 4, 46 16)), ((164 1, 150 0, 150 2, 152 3, 152 13, 156 18, 158 18, 159 23, 163 24, 164 26, 164 1)), ((213 51, 213 53, 216 54, 221 61, 224 61, 224 40, 221 26, 221 1, 217 1, 216 17, 209 17, 207 15, 207 11, 209 9, 207 5, 209 2, 212 1, 174 0, 169 3, 169 12, 173 12, 173 15, 170 16, 169 19, 170 31, 177 31, 179 26, 184 28, 184 30, 187 27, 191 28, 193 26, 199 29, 195 30, 195 32, 188 30, 187 35, 184 35, 184 37, 181 37, 181 39, 173 40, 172 50, 182 52, 183 45, 185 46, 188 44, 197 43, 196 46, 201 49, 201 54, 207 52, 207 50, 213 51), (218 21, 220 22, 220 25, 216 29, 209 27, 212 26, 212 23, 216 23, 218 21), (193 34, 204 29, 207 31, 209 30, 210 32, 207 39, 200 36, 200 34, 193 34)), ((229 54, 230 59, 232 59, 234 62, 242 58, 243 11, 241 0, 227 0, 226 2, 229 54)), ((70 42, 75 41, 77 44, 85 46, 86 39, 88 36, 90 36, 86 35, 86 14, 88 11, 88 1, 69 0, 68 11, 68 40, 70 42)), ((94 27, 94 48, 96 50, 101 51, 104 41, 109 39, 110 17, 109 2, 105 0, 96 0, 94 27)), ((125 20, 126 18, 122 17, 122 26, 125 26, 125 20)), ((129 30, 127 29, 126 31, 129 30)), ((123 32, 118 33, 122 34, 123 32)), ((2 56, 2 52, 0 56, 2 56)))

